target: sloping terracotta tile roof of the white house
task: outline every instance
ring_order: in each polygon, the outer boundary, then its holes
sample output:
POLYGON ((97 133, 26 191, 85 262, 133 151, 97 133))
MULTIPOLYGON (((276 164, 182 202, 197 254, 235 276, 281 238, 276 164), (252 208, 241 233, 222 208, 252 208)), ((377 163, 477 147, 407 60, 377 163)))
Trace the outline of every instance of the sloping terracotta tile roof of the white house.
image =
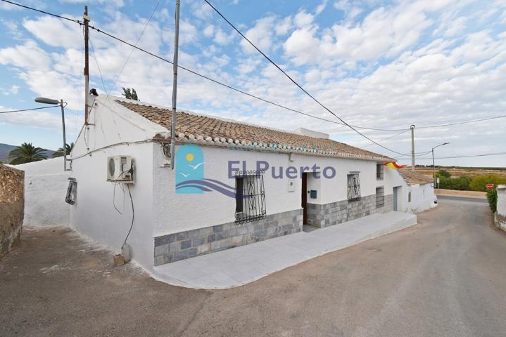
MULTIPOLYGON (((172 111, 151 105, 142 105, 116 100, 117 103, 137 112, 153 123, 170 130, 172 111)), ((388 160, 389 158, 374 152, 361 150, 335 140, 303 136, 298 133, 278 131, 263 126, 253 126, 236 121, 225 121, 213 117, 188 112, 178 112, 176 117, 176 136, 178 140, 210 140, 222 145, 252 145, 293 152, 310 152, 328 157, 362 157, 362 159, 388 160), (184 133, 184 135, 182 135, 184 133)))

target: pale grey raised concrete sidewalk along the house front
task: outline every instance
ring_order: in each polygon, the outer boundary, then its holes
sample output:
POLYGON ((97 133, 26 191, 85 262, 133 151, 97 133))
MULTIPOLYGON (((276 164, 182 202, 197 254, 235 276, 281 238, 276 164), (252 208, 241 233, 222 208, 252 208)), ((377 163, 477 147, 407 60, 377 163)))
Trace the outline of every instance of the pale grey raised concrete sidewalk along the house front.
POLYGON ((415 225, 402 212, 372 214, 356 220, 299 232, 155 267, 155 277, 177 286, 227 289, 261 279, 305 260, 415 225))

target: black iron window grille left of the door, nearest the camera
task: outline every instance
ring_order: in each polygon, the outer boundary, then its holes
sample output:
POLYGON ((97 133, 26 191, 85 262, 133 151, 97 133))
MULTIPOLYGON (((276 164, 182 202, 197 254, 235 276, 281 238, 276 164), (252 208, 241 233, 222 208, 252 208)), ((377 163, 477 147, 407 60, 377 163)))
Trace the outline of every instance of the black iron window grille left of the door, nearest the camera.
POLYGON ((262 171, 236 171, 236 223, 264 219, 265 190, 262 171))

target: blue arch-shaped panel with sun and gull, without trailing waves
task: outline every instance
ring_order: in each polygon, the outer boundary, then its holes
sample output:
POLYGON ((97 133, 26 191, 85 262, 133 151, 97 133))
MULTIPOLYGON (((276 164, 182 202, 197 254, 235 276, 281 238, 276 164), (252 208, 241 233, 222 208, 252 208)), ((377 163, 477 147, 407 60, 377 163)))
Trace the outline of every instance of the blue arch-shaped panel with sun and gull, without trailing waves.
POLYGON ((204 154, 198 145, 185 144, 176 152, 176 193, 200 194, 204 178, 204 154))

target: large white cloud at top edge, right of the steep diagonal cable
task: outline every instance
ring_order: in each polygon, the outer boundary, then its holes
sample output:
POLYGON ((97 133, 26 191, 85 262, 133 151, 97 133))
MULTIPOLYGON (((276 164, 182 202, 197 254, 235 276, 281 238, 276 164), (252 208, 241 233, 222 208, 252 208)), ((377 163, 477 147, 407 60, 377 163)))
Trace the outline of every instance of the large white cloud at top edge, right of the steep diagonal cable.
POLYGON ((296 29, 284 44, 286 55, 298 65, 346 60, 376 60, 398 55, 414 46, 431 19, 417 4, 378 8, 362 22, 336 24, 319 32, 310 26, 310 14, 304 12, 296 29), (309 49, 308 49, 309 48, 309 49), (312 53, 304 53, 311 50, 312 53))

